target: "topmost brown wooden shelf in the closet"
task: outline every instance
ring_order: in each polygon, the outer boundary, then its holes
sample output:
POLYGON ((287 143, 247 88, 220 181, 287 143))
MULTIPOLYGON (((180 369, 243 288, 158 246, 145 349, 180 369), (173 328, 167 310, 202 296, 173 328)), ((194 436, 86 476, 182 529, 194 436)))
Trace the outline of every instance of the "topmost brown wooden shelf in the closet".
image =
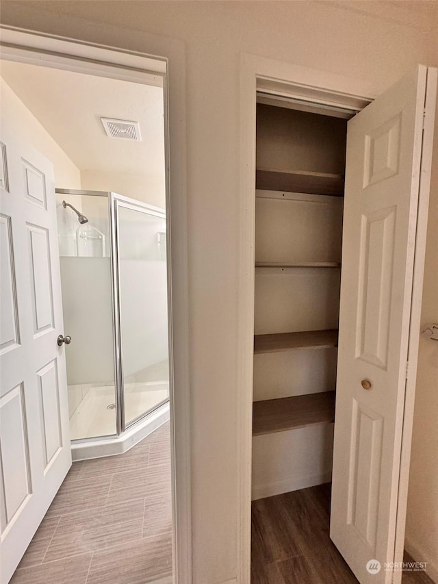
POLYGON ((344 177, 342 175, 311 173, 302 170, 257 168, 255 171, 255 188, 344 196, 344 177))

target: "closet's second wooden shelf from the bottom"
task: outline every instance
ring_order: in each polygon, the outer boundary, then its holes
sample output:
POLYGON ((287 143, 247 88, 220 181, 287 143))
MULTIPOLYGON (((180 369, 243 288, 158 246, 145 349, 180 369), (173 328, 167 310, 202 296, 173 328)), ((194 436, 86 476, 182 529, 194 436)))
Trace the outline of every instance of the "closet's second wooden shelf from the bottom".
POLYGON ((301 331, 254 336, 254 353, 279 353, 297 348, 330 348, 337 346, 337 329, 301 331))

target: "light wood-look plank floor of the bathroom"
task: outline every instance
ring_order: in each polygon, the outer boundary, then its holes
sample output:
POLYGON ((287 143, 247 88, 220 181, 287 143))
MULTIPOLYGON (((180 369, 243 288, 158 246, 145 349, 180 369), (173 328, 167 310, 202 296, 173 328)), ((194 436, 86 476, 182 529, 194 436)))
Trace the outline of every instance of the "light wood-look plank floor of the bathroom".
POLYGON ((172 574, 170 435, 73 463, 10 584, 145 584, 172 574))

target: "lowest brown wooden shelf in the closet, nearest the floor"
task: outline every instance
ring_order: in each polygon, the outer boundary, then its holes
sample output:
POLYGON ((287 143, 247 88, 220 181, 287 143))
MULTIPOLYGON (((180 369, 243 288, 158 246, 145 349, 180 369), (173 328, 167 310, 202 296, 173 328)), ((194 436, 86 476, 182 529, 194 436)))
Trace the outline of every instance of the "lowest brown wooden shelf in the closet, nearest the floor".
POLYGON ((335 392, 253 403, 253 436, 329 424, 335 420, 335 392))

